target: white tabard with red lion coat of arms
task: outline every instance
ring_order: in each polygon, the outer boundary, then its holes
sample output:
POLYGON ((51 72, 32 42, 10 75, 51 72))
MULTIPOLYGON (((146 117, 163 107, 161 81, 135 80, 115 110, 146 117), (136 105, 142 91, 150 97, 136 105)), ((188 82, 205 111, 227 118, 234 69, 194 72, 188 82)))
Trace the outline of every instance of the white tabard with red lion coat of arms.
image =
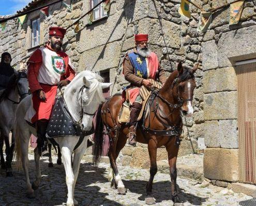
MULTIPOLYGON (((56 52, 46 48, 39 48, 42 52, 42 65, 38 73, 38 81, 44 84, 54 85, 59 82, 61 75, 65 74, 67 67, 64 58, 59 57, 56 52)), ((72 67, 70 59, 68 64, 72 67)))

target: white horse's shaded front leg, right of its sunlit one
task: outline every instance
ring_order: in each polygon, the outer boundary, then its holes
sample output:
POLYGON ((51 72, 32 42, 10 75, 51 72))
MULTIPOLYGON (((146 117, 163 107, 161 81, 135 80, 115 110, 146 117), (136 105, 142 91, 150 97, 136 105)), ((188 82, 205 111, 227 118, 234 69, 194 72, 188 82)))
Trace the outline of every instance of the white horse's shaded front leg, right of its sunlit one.
MULTIPOLYGON (((74 197, 74 187, 76 186, 76 182, 78 179, 78 173, 80 168, 80 162, 83 158, 84 152, 87 148, 87 136, 85 136, 81 145, 74 151, 74 158, 73 158, 73 174, 74 174, 74 183, 73 183, 73 197, 74 197)), ((78 205, 78 201, 73 198, 74 204, 78 205)))

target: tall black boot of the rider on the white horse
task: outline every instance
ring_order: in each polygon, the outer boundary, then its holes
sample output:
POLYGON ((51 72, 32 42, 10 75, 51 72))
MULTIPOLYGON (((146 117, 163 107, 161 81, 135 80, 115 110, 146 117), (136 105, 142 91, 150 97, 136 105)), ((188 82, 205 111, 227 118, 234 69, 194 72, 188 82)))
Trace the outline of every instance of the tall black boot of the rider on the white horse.
POLYGON ((47 149, 46 129, 48 121, 37 121, 37 148, 40 156, 49 156, 47 149))

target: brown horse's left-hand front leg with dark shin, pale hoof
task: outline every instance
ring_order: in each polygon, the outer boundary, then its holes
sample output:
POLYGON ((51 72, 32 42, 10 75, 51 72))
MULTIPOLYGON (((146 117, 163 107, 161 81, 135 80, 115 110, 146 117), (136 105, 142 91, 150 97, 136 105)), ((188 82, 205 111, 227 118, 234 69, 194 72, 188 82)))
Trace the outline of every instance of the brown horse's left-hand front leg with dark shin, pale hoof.
POLYGON ((157 157, 157 144, 155 139, 150 139, 147 145, 149 158, 150 158, 150 178, 147 182, 146 186, 146 204, 155 204, 155 198, 152 196, 152 184, 154 177, 157 173, 157 164, 156 164, 156 157, 157 157))

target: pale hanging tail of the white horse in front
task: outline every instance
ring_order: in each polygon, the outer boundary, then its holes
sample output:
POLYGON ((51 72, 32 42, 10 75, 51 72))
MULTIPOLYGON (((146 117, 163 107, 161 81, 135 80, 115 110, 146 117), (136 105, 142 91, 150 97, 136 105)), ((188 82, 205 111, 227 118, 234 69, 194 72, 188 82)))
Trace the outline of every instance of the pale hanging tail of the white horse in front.
POLYGON ((15 138, 15 150, 14 157, 16 159, 16 168, 17 170, 22 169, 22 160, 21 160, 21 135, 18 129, 17 119, 14 119, 14 138, 15 138))

